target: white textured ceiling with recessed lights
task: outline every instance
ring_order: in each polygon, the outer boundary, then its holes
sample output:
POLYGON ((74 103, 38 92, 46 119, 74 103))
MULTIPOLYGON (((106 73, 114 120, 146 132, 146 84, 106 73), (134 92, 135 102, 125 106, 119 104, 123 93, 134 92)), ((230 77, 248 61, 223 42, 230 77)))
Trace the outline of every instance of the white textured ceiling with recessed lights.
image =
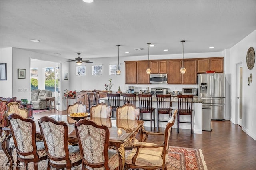
POLYGON ((67 59, 77 57, 77 52, 84 59, 116 57, 116 45, 121 45, 120 57, 148 55, 148 42, 155 45, 150 47, 150 55, 177 54, 182 53, 180 40, 186 40, 184 53, 219 52, 256 30, 255 0, 0 3, 1 48, 67 59))

